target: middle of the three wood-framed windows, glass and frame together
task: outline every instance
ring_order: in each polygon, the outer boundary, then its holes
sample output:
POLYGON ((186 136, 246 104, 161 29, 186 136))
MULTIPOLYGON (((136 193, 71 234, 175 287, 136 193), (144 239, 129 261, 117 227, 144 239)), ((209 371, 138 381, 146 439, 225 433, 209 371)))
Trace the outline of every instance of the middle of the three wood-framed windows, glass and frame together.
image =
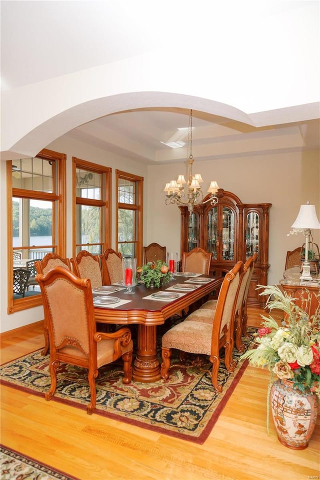
POLYGON ((75 255, 87 250, 97 255, 110 242, 111 168, 72 157, 75 198, 75 255))

